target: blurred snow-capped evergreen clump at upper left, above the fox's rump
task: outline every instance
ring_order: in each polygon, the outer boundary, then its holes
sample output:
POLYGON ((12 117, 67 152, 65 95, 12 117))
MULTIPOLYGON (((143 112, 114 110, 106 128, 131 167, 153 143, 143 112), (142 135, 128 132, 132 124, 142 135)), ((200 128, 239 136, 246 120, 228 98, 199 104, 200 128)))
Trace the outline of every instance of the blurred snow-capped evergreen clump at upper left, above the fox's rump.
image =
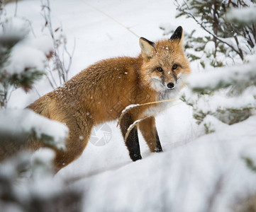
POLYGON ((9 18, 0 28, 0 107, 7 107, 11 91, 29 90, 45 74, 45 62, 53 46, 48 37, 31 39, 29 25, 21 18, 9 18))

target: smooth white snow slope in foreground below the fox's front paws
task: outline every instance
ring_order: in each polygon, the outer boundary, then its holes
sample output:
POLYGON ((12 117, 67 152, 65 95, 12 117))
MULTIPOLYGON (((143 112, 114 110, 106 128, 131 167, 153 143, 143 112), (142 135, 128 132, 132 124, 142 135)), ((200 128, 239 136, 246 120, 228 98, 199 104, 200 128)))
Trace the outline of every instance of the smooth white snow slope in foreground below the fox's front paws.
POLYGON ((255 124, 250 117, 190 145, 82 179, 76 185, 88 189, 84 211, 229 211, 237 196, 256 192, 255 174, 240 158, 255 146, 255 124))

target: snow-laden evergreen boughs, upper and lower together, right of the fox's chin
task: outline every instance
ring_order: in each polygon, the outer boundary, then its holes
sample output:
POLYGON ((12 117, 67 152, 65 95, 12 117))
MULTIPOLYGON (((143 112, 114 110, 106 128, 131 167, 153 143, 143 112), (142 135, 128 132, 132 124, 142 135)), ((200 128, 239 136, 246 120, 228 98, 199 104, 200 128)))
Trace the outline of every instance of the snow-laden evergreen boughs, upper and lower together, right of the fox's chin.
POLYGON ((187 85, 189 89, 184 90, 181 99, 193 107, 194 118, 205 126, 206 133, 215 131, 214 121, 212 124, 206 121, 208 115, 223 123, 235 124, 255 113, 255 62, 193 73, 187 85))

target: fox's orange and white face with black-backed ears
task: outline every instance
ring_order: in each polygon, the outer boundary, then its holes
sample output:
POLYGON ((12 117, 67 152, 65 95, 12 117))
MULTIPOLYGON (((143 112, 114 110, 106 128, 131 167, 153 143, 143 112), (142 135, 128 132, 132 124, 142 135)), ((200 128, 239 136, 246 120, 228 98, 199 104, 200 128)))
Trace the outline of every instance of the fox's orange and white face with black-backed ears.
POLYGON ((182 27, 179 27, 169 40, 154 43, 140 38, 143 81, 157 93, 171 95, 185 85, 190 68, 183 52, 182 35, 182 27))

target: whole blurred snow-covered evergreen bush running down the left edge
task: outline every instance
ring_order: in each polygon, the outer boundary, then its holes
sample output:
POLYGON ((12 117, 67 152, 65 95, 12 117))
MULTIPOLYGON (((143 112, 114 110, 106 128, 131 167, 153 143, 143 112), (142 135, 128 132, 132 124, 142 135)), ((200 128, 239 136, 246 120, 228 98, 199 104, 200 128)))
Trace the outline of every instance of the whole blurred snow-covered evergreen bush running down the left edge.
POLYGON ((0 211, 81 211, 82 192, 53 179, 55 152, 28 150, 35 141, 65 151, 67 126, 8 107, 13 90, 30 90, 47 73, 54 52, 52 39, 30 37, 29 30, 22 18, 0 23, 0 211))

